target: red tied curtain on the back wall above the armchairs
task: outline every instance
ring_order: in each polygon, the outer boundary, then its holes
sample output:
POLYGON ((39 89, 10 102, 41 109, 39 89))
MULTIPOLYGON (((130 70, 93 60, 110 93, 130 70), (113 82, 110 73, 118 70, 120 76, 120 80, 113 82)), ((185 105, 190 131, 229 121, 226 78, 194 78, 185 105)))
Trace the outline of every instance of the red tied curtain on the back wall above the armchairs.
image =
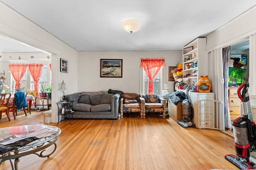
POLYGON ((148 78, 148 94, 154 93, 153 79, 156 77, 160 68, 165 66, 164 58, 142 58, 140 59, 140 67, 144 68, 148 78))

